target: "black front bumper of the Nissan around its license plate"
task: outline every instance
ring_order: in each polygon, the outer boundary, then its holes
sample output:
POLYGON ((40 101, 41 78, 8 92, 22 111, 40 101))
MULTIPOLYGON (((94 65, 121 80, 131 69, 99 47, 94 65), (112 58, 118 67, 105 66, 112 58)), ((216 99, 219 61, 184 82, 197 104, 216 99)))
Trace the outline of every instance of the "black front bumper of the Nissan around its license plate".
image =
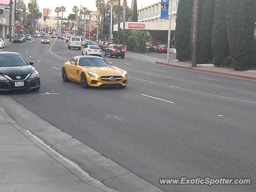
POLYGON ((23 89, 34 89, 40 87, 40 78, 36 77, 33 79, 28 78, 23 80, 24 86, 15 87, 15 81, 11 80, 0 80, 0 91, 10 91, 10 90, 23 90, 23 89))

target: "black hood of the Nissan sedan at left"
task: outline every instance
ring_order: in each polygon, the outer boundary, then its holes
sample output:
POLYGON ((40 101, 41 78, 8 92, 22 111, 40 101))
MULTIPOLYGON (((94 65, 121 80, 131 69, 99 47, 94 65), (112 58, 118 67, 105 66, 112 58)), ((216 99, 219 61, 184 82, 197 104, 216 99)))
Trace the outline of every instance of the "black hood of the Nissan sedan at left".
POLYGON ((26 66, 14 66, 14 67, 0 67, 1 75, 22 75, 31 74, 34 71, 34 67, 31 65, 26 66))

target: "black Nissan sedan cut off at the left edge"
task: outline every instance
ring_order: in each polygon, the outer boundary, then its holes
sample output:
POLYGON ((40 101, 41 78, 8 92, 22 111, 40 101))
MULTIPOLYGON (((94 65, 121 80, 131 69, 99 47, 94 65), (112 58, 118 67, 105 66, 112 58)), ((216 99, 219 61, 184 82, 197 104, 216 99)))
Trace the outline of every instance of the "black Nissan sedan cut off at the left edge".
POLYGON ((0 52, 0 91, 40 89, 40 78, 33 65, 16 52, 0 52))

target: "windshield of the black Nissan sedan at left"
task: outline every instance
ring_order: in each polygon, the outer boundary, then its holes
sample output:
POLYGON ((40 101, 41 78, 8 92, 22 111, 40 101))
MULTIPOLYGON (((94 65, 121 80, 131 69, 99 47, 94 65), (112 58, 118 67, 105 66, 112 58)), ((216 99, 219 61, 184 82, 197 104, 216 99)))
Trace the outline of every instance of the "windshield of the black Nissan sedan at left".
POLYGON ((0 67, 26 66, 28 63, 21 55, 0 55, 0 67))

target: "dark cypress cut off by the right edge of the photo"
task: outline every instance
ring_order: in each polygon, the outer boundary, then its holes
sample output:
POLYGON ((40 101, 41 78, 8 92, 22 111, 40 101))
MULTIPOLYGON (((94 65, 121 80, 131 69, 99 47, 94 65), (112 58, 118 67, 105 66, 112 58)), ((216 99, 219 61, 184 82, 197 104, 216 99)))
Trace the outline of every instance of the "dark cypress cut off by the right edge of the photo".
POLYGON ((256 21, 256 1, 246 0, 245 1, 245 30, 246 34, 246 52, 248 52, 249 67, 253 65, 254 61, 254 27, 256 21))

